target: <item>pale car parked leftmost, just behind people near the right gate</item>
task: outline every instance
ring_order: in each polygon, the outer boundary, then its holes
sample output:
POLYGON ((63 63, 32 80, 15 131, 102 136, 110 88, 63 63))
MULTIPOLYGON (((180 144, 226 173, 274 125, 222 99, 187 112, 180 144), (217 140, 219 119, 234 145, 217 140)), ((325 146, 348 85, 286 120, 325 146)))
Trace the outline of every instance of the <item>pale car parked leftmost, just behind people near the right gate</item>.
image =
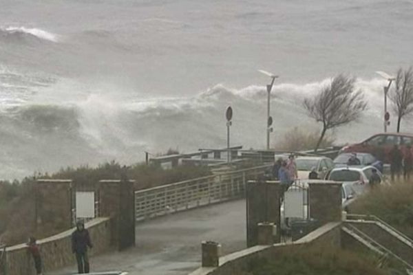
POLYGON ((299 179, 308 179, 308 174, 310 174, 311 168, 313 167, 315 167, 319 179, 324 179, 326 173, 334 168, 332 159, 328 157, 297 157, 295 164, 297 164, 299 179))

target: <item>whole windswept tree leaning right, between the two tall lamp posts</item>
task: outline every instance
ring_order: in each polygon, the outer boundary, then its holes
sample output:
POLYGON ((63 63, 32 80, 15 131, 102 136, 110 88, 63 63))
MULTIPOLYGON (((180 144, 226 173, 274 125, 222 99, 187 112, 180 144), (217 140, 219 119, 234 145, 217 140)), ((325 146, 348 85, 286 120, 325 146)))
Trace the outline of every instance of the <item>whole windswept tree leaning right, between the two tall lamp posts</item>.
POLYGON ((362 91, 355 89, 355 81, 356 78, 339 74, 332 78, 331 83, 322 88, 317 96, 304 100, 304 108, 310 118, 323 124, 315 151, 323 141, 326 131, 357 120, 366 109, 367 102, 362 91))

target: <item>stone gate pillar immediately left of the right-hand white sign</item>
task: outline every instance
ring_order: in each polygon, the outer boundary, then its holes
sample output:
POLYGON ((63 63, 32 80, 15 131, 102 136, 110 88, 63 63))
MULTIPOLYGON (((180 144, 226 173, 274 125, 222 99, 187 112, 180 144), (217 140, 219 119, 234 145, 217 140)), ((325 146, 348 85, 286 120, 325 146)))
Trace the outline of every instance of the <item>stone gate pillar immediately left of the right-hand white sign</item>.
MULTIPOLYGON (((248 181, 246 185, 246 244, 249 247, 258 244, 258 223, 280 225, 281 186, 277 181, 248 181)), ((275 243, 280 241, 279 230, 275 243)))

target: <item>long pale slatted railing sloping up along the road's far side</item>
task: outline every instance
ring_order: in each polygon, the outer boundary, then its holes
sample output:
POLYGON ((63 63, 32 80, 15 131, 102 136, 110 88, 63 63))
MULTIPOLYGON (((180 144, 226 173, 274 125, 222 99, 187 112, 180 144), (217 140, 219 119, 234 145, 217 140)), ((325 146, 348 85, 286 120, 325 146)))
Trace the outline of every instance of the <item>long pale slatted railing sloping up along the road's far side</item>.
POLYGON ((246 182, 262 177, 268 167, 257 166, 136 191, 136 221, 244 197, 246 182))

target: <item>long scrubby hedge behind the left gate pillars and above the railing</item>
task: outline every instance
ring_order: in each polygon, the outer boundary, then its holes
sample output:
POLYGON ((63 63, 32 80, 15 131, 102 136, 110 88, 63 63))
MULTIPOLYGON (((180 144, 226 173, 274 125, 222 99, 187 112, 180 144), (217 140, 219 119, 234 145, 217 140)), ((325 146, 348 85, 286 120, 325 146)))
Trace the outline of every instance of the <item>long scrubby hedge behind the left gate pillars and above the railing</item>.
MULTIPOLYGON (((72 179, 75 184, 87 186, 96 184, 100 179, 135 180, 135 189, 145 189, 177 181, 211 175, 204 166, 178 166, 164 170, 157 166, 134 164, 129 167, 117 162, 107 162, 96 167, 80 166, 78 168, 62 168, 57 173, 36 175, 41 179, 72 179)), ((50 222, 36 230, 34 213, 34 177, 23 181, 0 181, 0 243, 14 245, 27 240, 28 236, 43 238, 56 234, 65 228, 60 217, 50 217, 50 222)))

